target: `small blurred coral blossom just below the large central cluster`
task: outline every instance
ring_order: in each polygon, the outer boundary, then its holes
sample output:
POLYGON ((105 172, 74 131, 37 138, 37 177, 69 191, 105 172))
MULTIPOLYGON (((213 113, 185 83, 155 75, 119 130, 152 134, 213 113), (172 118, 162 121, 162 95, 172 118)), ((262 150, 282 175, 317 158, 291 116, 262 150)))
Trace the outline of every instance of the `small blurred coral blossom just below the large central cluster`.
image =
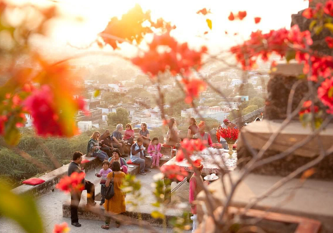
POLYGON ((191 103, 193 98, 197 98, 199 93, 206 90, 207 84, 200 79, 182 79, 186 93, 185 102, 191 103))

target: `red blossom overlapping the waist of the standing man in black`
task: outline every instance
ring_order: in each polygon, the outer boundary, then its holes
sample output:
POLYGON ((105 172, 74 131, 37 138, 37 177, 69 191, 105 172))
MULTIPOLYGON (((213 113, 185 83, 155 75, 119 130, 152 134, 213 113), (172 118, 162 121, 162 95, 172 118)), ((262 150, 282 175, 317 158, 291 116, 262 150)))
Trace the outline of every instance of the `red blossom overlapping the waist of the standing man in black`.
POLYGON ((84 189, 84 184, 82 184, 82 180, 84 179, 86 173, 81 172, 73 172, 71 176, 66 176, 60 180, 60 182, 56 185, 56 188, 64 191, 64 192, 75 192, 82 191, 84 189))

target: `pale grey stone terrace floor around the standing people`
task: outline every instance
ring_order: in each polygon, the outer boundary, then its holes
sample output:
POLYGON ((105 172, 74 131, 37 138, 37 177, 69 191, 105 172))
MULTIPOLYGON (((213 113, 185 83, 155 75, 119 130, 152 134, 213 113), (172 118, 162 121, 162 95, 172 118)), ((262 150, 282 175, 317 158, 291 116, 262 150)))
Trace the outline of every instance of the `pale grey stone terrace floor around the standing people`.
MULTIPOLYGON (((96 170, 100 170, 101 168, 96 168, 96 170)), ((151 187, 151 182, 153 181, 153 175, 159 172, 158 169, 152 169, 152 172, 147 172, 147 175, 137 175, 138 179, 141 180, 142 187, 141 192, 142 196, 145 197, 144 203, 136 209, 139 212, 152 212, 156 210, 155 207, 151 205, 151 203, 155 202, 155 197, 152 193, 153 188, 151 187)), ((86 177, 88 180, 92 181, 93 183, 98 184, 100 178, 94 176, 95 170, 92 170, 87 173, 86 177)), ((179 184, 179 183, 178 183, 179 184)), ((176 187, 176 183, 172 182, 171 189, 176 187)), ((189 190, 189 183, 185 182, 181 185, 172 196, 172 200, 177 200, 177 202, 188 202, 188 190, 189 190)), ((100 192, 100 187, 96 187, 96 191, 100 192)), ((86 191, 83 192, 81 197, 81 202, 86 202, 86 191)), ((55 224, 60 224, 62 222, 67 222, 69 227, 71 228, 70 232, 104 232, 101 228, 101 225, 104 224, 102 221, 96 220, 86 220, 86 219, 79 219, 79 222, 82 224, 81 227, 74 227, 71 225, 70 218, 64 218, 62 216, 62 205, 67 200, 70 200, 70 195, 65 194, 57 189, 54 192, 49 193, 45 196, 42 196, 36 200, 37 205, 39 207, 40 214, 43 219, 44 229, 45 232, 51 233, 53 231, 55 224)), ((128 195, 126 200, 131 200, 131 196, 128 195)), ((126 209, 130 209, 130 206, 126 206, 126 209)), ((167 210, 167 214, 175 215, 179 213, 179 210, 167 210)), ((164 228, 162 227, 154 227, 157 232, 165 232, 164 228)), ((115 227, 115 223, 110 223, 110 230, 112 232, 147 232, 147 230, 140 228, 137 225, 121 225, 119 228, 115 227)), ((18 224, 10 219, 0 218, 0 233, 12 233, 12 232, 24 232, 24 230, 18 226, 18 224)), ((105 231, 107 232, 107 231, 105 231)), ((166 232, 173 232, 172 228, 166 228, 166 232)), ((190 232, 190 231, 185 231, 190 232)))

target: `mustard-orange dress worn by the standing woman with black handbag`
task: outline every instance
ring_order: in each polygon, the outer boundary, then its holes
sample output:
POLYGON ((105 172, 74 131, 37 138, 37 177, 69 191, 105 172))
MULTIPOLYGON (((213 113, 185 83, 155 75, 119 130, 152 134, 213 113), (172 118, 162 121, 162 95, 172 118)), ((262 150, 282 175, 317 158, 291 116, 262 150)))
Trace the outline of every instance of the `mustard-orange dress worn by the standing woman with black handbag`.
MULTIPOLYGON (((107 176, 112 181, 113 172, 107 176)), ((120 214, 126 211, 125 207, 125 193, 121 190, 123 179, 126 174, 124 172, 115 172, 114 189, 115 195, 110 199, 105 199, 104 208, 109 214, 120 214)))

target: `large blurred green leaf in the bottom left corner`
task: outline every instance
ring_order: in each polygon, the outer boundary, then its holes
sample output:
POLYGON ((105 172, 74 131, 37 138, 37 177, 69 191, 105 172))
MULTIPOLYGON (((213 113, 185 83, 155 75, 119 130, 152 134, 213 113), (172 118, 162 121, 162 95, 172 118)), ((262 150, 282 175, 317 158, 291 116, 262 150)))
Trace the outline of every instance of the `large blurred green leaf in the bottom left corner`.
POLYGON ((0 185, 0 213, 16 221, 28 233, 43 232, 42 219, 31 196, 14 194, 2 184, 0 185))

